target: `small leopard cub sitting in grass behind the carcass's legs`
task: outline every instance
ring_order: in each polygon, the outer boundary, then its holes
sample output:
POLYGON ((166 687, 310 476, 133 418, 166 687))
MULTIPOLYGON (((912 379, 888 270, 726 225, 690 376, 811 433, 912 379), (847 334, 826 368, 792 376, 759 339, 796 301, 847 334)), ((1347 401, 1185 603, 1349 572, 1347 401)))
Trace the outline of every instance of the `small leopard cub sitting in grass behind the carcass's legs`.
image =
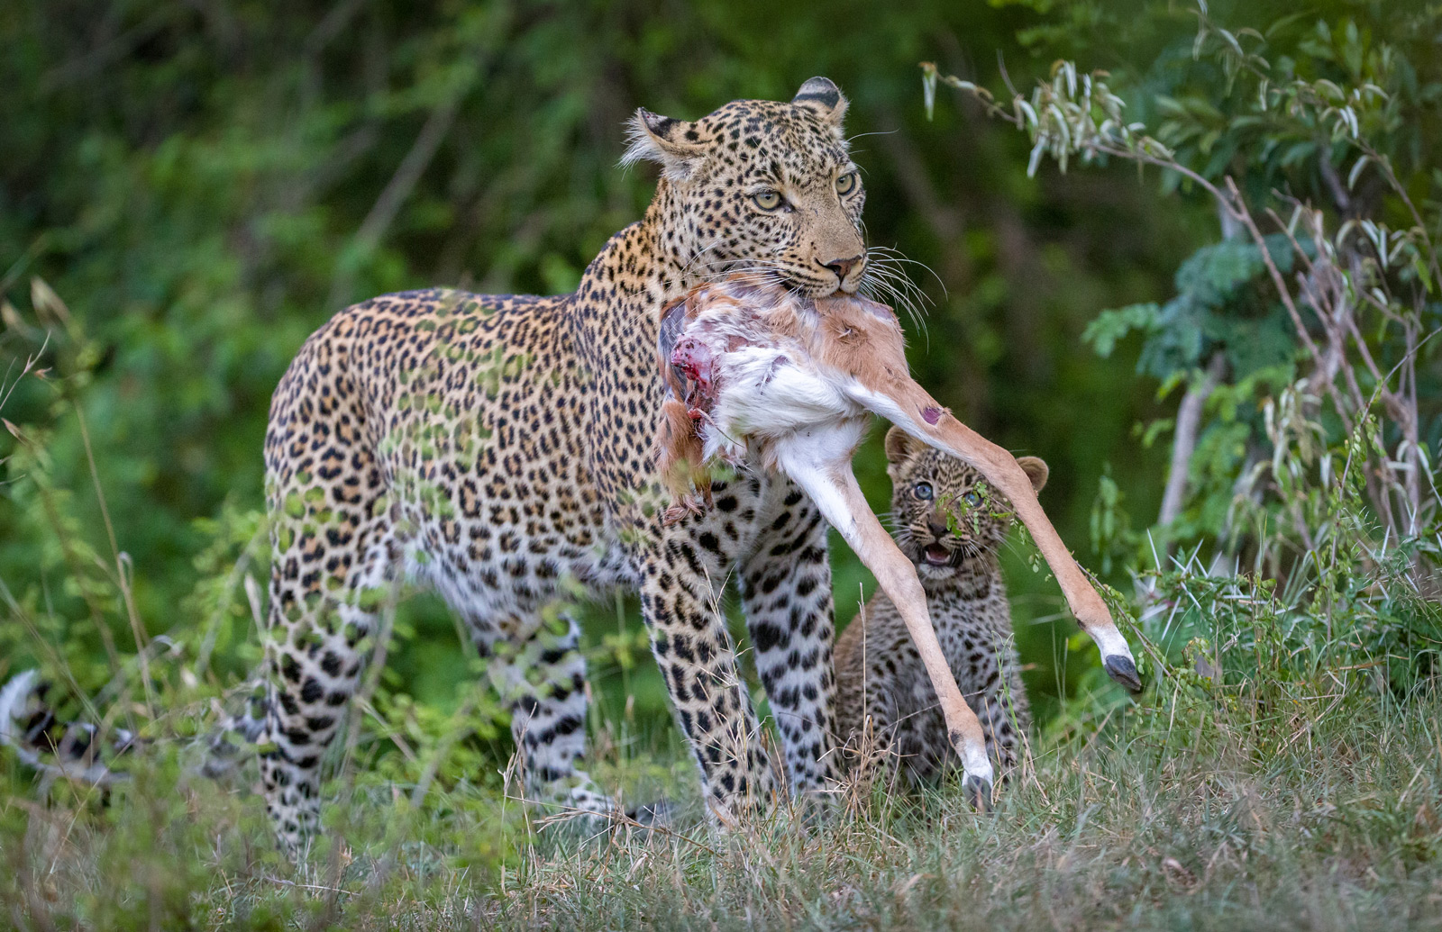
MULTIPOLYGON (((947 664, 982 722, 988 753, 1005 772, 1031 723, 996 562, 1011 506, 976 470, 897 428, 885 447, 893 534, 916 563, 947 664)), ((1047 464, 1035 457, 1017 462, 1041 491, 1047 464)), ((891 599, 877 592, 842 632, 835 655, 838 739, 858 784, 897 772, 908 784, 934 781, 957 763, 932 681, 891 599)))

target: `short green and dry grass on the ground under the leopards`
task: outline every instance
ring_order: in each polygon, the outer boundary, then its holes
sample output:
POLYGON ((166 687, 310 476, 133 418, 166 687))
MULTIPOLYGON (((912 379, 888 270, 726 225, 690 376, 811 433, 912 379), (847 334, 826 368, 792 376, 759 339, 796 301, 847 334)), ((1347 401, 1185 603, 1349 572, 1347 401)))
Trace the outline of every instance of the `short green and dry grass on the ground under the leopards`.
POLYGON ((730 834, 698 818, 665 736, 603 740, 598 769, 678 794, 673 833, 591 840, 528 824, 499 775, 437 781, 412 808, 362 742, 327 810, 348 844, 296 869, 244 779, 187 782, 173 753, 107 801, 55 787, 42 804, 9 768, 0 895, 33 929, 1438 928, 1442 697, 1309 690, 1171 671, 1053 727, 989 814, 943 787, 730 834))

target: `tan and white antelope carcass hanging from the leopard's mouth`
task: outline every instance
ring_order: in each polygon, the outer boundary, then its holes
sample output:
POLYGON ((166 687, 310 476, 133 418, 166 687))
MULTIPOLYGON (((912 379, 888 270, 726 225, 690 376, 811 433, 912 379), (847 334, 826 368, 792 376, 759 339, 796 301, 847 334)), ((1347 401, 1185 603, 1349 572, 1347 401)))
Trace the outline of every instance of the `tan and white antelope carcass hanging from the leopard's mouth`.
POLYGON ((960 457, 1012 503, 1071 612, 1100 647, 1106 671, 1141 690, 1126 640, 1043 513, 1031 480, 1009 452, 953 418, 911 379, 891 308, 851 295, 806 298, 740 279, 701 285, 662 313, 659 364, 669 392, 658 465, 675 503, 666 520, 709 504, 714 461, 740 465, 758 458, 800 485, 901 614, 978 801, 989 799, 992 782, 981 723, 942 654, 916 568, 871 513, 851 471, 872 413, 960 457))

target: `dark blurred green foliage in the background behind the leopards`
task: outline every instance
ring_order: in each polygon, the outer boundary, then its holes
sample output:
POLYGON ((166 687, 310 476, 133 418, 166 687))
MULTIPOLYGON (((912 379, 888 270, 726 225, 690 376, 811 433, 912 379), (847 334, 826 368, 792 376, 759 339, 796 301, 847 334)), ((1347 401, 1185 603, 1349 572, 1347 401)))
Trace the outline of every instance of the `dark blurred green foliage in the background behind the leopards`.
MULTIPOLYGON (((789 99, 826 75, 851 98, 870 242, 930 269, 911 266, 932 301, 910 330, 917 377, 982 434, 1047 460, 1043 504, 1100 569, 1089 545, 1099 478, 1109 472, 1151 523, 1167 449, 1136 425, 1175 399, 1136 377, 1138 344, 1100 359, 1080 333, 1102 308, 1167 300, 1178 264, 1217 238, 1216 216, 1123 166, 1028 179, 1027 140, 975 104, 926 118, 917 65, 992 88, 1005 69, 1025 88, 1092 30, 1105 42, 1083 65, 1118 84, 1162 89, 1210 66, 1191 62, 1195 17, 1180 6, 1076 4, 1066 17, 1053 6, 7 0, 0 415, 48 432, 48 458, 23 467, 43 470, 63 520, 104 552, 81 422, 56 399, 79 402, 137 615, 193 650, 206 586, 261 507, 270 393, 313 328, 404 288, 568 291, 653 190, 650 169, 616 164, 636 107, 695 118, 734 98, 789 99), (35 305, 32 277, 68 317, 35 305), (17 380, 46 323, 48 379, 17 380)), ((1149 95, 1133 97, 1146 120, 1149 95)), ((9 598, 72 618, 46 637, 98 671, 105 638, 75 609, 78 557, 48 500, 17 481, 16 451, 0 434, 0 579, 9 598)), ((880 429, 857 468, 885 510, 880 429)), ((833 562, 845 622, 872 582, 839 543, 833 562)), ((1008 581, 1028 683, 1051 709, 1089 660, 1069 660, 1074 627, 1056 622, 1054 583, 1021 547, 1008 581)), ((244 599, 225 612, 222 681, 255 658, 244 599)), ((125 612, 101 615, 127 644, 125 612)), ((0 625, 4 674, 35 651, 16 621, 0 625)), ((639 627, 633 604, 597 608, 588 637, 617 625, 639 627)), ((454 703, 472 673, 440 604, 412 601, 398 631, 388 687, 454 703)), ((669 720, 645 655, 624 676, 611 661, 593 673, 604 717, 632 693, 633 716, 669 720)))

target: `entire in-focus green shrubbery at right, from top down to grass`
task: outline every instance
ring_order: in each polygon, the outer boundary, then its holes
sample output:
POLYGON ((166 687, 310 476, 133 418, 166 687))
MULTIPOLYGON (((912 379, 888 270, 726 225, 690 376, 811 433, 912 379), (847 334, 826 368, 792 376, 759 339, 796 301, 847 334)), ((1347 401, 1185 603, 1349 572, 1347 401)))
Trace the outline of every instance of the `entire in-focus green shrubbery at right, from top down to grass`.
MULTIPOLYGON (((1126 6, 1125 26, 1073 4, 1061 19, 1076 32, 1024 40, 1112 52, 1118 33, 1099 23, 1135 37, 1165 19, 1126 6)), ((1190 62, 1161 52, 1151 68, 1086 73, 1063 59, 1009 102, 923 63, 926 105, 939 85, 969 94, 1027 134, 1030 174, 1044 158, 1161 167, 1164 190, 1180 183, 1221 220, 1175 297, 1102 311, 1083 336, 1112 357, 1139 334, 1138 372, 1159 396, 1185 386, 1175 419, 1139 429, 1146 445, 1174 431, 1158 526, 1135 530, 1107 475, 1092 513, 1103 569, 1131 565, 1154 661, 1194 664, 1253 714, 1328 690, 1405 702, 1433 683, 1442 642, 1442 176, 1425 154, 1442 71, 1413 32, 1442 13, 1195 13, 1190 62), (1123 118, 1128 92, 1144 112, 1155 102, 1155 137, 1123 118)))

